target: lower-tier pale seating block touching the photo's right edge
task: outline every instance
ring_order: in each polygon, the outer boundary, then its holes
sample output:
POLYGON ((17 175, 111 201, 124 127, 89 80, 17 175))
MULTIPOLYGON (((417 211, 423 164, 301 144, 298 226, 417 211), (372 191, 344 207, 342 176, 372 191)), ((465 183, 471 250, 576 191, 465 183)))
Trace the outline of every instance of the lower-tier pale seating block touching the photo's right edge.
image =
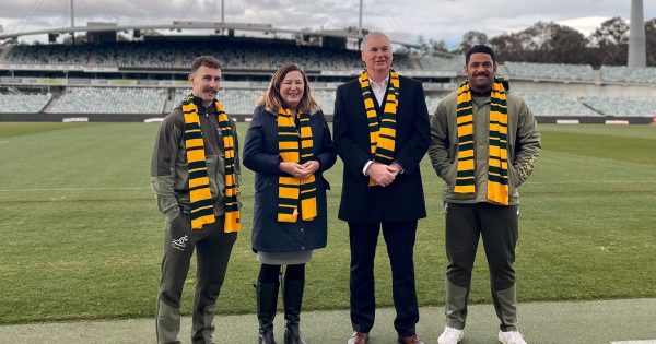
POLYGON ((656 116, 656 99, 651 98, 611 98, 590 96, 582 97, 583 104, 594 108, 605 116, 614 117, 654 117, 656 116))

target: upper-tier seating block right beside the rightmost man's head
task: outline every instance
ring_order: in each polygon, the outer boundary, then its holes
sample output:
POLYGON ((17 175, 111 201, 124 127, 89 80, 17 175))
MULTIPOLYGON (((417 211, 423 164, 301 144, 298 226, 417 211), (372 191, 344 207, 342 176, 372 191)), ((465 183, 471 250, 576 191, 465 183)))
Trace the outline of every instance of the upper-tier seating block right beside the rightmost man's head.
POLYGON ((593 82, 595 80, 593 67, 589 64, 555 64, 507 61, 504 63, 504 67, 514 78, 578 82, 593 82))

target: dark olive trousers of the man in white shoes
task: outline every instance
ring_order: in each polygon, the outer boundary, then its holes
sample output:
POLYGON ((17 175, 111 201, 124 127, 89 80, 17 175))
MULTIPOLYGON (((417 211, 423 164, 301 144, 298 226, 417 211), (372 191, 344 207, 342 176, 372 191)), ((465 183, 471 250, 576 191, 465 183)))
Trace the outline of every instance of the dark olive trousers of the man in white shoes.
POLYGON ((471 270, 479 238, 490 268, 490 289, 502 331, 517 330, 515 247, 518 206, 491 203, 445 204, 446 211, 446 323, 464 329, 471 270))

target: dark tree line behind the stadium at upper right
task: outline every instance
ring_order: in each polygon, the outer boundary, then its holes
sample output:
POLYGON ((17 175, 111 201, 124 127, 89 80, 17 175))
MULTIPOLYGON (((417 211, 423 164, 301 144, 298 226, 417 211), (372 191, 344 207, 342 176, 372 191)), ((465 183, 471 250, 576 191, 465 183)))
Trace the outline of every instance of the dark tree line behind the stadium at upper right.
MULTIPOLYGON (((647 66, 656 66, 656 17, 645 22, 647 66)), ((517 33, 489 37, 469 31, 457 48, 449 50, 444 40, 419 38, 419 47, 406 52, 419 56, 462 55, 477 44, 491 46, 499 62, 540 62, 626 66, 629 58, 629 24, 619 16, 601 23, 589 36, 565 25, 538 22, 517 33)))

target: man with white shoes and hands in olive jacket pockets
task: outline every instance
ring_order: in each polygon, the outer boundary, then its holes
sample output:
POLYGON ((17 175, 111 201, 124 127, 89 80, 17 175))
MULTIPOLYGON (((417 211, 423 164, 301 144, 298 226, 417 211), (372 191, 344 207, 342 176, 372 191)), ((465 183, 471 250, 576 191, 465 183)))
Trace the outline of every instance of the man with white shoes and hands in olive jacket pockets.
POLYGON ((517 331, 515 246, 517 188, 540 154, 536 120, 517 96, 494 78, 494 52, 475 46, 466 56, 467 82, 446 96, 431 120, 429 155, 446 182, 446 329, 441 344, 462 340, 471 269, 479 237, 490 266, 502 343, 525 343, 517 331), (493 153, 495 152, 495 153, 493 153))

